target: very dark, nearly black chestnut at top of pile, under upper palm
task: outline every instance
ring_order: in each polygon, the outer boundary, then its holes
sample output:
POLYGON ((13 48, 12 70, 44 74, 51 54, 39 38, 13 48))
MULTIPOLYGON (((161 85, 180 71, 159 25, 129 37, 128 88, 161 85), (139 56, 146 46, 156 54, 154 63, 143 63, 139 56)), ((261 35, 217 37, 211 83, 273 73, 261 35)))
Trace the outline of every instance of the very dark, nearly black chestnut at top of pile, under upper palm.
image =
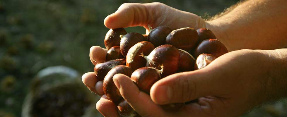
POLYGON ((151 30, 148 34, 148 41, 155 47, 165 44, 165 39, 172 30, 168 26, 159 26, 151 30))

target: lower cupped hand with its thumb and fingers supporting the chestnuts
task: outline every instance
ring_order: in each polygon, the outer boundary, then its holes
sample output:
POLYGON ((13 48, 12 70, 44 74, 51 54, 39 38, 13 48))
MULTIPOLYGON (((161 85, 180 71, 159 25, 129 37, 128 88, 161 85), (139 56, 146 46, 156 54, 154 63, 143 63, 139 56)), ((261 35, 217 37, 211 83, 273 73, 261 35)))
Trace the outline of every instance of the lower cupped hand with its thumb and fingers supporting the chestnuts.
MULTIPOLYGON (((276 76, 272 72, 278 70, 274 64, 272 56, 262 50, 232 51, 203 69, 159 80, 152 86, 150 96, 125 75, 117 74, 113 80, 124 99, 141 116, 232 117, 274 99, 278 93, 273 91, 276 76), (177 112, 165 111, 158 105, 194 99, 199 102, 186 104, 177 112)), ((104 116, 118 116, 116 108, 106 98, 97 103, 104 116)))

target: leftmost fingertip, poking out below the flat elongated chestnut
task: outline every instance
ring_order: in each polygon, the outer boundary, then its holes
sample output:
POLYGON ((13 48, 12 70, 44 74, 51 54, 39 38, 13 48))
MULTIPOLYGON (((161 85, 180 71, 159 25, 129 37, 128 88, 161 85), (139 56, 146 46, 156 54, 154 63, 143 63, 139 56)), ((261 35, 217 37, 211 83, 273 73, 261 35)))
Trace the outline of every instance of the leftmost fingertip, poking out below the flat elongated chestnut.
POLYGON ((95 84, 96 82, 98 82, 98 79, 94 72, 85 73, 82 76, 82 81, 88 87, 90 91, 98 94, 95 90, 95 84))

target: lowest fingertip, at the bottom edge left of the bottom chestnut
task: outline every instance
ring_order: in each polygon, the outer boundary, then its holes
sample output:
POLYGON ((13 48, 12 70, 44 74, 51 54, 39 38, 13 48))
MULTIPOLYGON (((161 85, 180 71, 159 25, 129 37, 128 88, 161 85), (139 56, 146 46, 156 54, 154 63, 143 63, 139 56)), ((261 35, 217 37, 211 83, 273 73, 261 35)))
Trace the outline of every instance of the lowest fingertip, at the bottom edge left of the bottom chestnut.
POLYGON ((107 99, 105 95, 97 102, 96 108, 105 117, 118 117, 117 106, 110 100, 107 99))

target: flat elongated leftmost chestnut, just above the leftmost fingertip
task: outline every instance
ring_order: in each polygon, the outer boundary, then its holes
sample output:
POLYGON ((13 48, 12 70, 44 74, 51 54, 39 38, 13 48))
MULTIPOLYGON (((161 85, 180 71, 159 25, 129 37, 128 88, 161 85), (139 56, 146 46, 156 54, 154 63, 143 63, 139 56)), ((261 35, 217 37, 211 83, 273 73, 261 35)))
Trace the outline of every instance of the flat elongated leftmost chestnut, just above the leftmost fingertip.
POLYGON ((95 65, 94 71, 95 75, 99 80, 104 80, 107 73, 115 66, 126 65, 125 59, 115 59, 111 61, 106 61, 104 63, 98 63, 95 65))

